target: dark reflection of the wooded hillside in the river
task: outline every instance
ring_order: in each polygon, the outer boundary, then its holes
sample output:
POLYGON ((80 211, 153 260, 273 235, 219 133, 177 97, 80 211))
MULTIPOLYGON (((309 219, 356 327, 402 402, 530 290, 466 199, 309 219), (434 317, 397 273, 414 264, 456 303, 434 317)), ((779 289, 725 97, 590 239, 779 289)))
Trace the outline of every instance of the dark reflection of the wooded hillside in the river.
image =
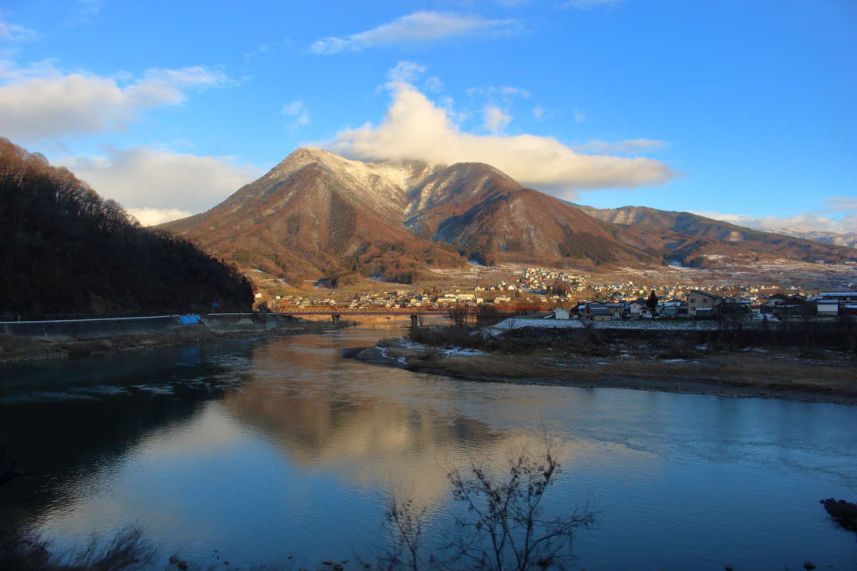
MULTIPOLYGON (((74 502, 82 488, 155 430, 185 423, 242 382, 253 348, 171 348, 3 370, 0 445, 22 473, 3 486, 0 509, 39 514, 74 502)), ((14 513, 13 512, 13 513, 14 513)))

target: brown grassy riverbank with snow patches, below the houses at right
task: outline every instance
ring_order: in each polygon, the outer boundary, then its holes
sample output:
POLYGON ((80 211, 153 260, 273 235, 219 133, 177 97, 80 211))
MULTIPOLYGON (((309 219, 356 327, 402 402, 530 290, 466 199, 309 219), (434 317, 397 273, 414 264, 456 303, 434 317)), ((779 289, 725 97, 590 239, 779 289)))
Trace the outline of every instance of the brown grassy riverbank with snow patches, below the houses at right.
POLYGON ((549 384, 584 388, 656 390, 696 395, 779 398, 857 405, 857 367, 848 354, 823 352, 816 359, 765 349, 656 359, 615 354, 581 356, 550 350, 528 354, 438 348, 405 339, 381 340, 345 357, 375 365, 473 381, 549 384))

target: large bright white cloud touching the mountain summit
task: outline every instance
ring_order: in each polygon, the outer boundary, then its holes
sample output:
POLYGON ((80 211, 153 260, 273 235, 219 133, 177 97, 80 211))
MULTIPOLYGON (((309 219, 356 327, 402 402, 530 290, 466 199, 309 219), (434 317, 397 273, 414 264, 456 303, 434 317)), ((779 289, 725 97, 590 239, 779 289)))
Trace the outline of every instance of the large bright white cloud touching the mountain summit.
POLYGON ((551 137, 476 135, 462 132, 450 113, 405 83, 391 84, 393 104, 375 127, 340 131, 327 146, 352 158, 417 158, 436 163, 492 164, 525 185, 572 198, 579 188, 663 184, 675 174, 650 158, 593 156, 551 137))

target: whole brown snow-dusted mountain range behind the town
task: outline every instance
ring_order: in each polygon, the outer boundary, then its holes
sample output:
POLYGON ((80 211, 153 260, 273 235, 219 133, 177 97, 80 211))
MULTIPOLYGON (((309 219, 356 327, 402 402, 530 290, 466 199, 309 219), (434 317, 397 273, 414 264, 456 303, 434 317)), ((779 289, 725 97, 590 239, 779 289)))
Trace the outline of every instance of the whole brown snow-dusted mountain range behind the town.
POLYGON ((291 283, 350 273, 410 282, 468 259, 589 270, 857 259, 687 212, 573 205, 488 164, 363 163, 303 147, 210 211, 160 228, 291 283))

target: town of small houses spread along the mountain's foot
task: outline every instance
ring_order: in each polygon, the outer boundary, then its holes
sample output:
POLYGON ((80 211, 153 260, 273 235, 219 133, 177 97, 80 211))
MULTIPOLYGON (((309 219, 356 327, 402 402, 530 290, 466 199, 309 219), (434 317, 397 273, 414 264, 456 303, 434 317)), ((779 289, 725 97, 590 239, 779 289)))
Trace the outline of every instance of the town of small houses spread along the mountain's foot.
POLYGON ((619 318, 713 318, 726 311, 819 317, 857 316, 857 282, 836 291, 808 291, 776 283, 706 285, 686 283, 596 283, 590 275, 529 267, 496 283, 470 287, 360 289, 341 292, 314 288, 289 293, 267 288, 255 294, 263 311, 347 307, 369 309, 444 309, 455 306, 539 306, 557 315, 592 320, 619 318), (345 297, 347 296, 347 297, 345 297))

